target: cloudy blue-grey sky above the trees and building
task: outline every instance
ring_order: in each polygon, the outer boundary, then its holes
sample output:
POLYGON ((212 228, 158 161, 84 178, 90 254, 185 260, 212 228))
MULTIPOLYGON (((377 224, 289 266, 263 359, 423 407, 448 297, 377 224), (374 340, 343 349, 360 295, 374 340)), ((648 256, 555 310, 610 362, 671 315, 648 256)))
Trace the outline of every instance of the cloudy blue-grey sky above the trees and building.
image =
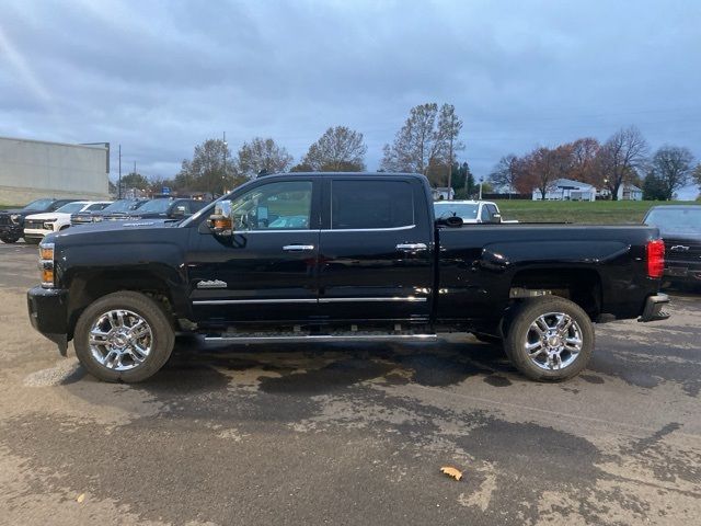
POLYGON ((223 132, 297 161, 332 125, 365 135, 375 170, 424 102, 455 104, 478 176, 632 124, 701 158, 701 1, 0 5, 0 136, 122 144, 147 175, 223 132))

